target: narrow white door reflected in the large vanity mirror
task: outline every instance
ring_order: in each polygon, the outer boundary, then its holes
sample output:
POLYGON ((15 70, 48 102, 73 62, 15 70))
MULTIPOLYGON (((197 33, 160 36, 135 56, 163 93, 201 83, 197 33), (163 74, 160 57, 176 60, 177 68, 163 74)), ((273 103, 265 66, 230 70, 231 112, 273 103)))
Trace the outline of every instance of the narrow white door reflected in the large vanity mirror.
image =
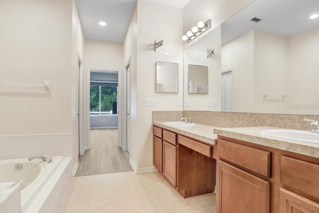
POLYGON ((233 101, 233 71, 225 70, 221 74, 221 111, 231 112, 233 101))

